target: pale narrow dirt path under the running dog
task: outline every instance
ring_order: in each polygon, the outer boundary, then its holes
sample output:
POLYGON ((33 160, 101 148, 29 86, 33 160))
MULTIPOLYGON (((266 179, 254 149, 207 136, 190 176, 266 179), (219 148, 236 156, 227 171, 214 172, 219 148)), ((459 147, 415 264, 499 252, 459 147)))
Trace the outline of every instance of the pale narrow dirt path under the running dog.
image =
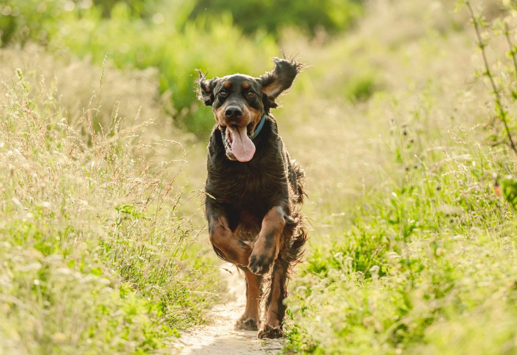
POLYGON ((241 355, 276 354, 281 351, 284 340, 258 340, 257 332, 234 330, 235 320, 244 312, 246 286, 244 276, 238 275, 234 266, 224 266, 233 275, 222 270, 229 292, 223 295, 223 304, 216 305, 209 314, 211 323, 181 333, 184 345, 181 355, 241 355))

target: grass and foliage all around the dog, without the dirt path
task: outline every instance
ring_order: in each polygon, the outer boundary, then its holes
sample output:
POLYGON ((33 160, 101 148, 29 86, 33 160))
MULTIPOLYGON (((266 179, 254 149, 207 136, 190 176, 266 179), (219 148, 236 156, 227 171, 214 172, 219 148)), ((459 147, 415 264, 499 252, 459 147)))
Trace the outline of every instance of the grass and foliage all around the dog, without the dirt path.
POLYGON ((281 56, 310 229, 283 351, 515 353, 515 6, 0 2, 0 354, 174 353, 210 321, 195 69, 281 56))

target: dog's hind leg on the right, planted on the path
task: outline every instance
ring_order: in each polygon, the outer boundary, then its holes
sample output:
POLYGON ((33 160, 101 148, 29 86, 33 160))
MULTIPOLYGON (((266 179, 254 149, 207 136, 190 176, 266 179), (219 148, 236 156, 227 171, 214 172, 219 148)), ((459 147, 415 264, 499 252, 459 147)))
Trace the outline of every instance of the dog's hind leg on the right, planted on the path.
POLYGON ((287 297, 287 272, 289 263, 281 257, 275 261, 271 273, 271 284, 266 300, 266 320, 258 338, 275 339, 283 335, 283 319, 285 315, 285 305, 283 300, 287 297))

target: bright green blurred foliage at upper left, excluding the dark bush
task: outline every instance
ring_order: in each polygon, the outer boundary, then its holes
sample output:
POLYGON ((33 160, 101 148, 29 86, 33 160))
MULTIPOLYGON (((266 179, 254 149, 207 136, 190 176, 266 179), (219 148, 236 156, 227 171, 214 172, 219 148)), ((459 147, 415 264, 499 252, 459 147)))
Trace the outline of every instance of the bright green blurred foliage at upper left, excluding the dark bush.
POLYGON ((32 40, 54 52, 67 48, 80 57, 91 56, 98 64, 107 56, 120 68, 156 67, 160 91, 173 104, 169 114, 198 135, 205 136, 214 119, 208 109, 198 109, 194 69, 214 76, 261 75, 270 69, 269 59, 280 54, 271 36, 248 38, 227 15, 187 21, 189 2, 88 3, 87 8, 83 3, 10 0, 10 15, 0 22, 2 44, 32 40), (108 18, 103 16, 107 8, 108 18), (150 9, 153 16, 139 17, 150 9))

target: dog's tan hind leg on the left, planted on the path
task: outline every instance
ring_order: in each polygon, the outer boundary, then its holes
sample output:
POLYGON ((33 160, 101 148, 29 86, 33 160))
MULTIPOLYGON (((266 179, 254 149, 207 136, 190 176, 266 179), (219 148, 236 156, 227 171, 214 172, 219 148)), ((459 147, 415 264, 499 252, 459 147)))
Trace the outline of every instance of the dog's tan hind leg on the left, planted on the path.
POLYGON ((260 324, 260 299, 262 297, 262 276, 247 268, 241 268, 246 276, 246 309, 235 323, 235 329, 258 330, 260 324))

